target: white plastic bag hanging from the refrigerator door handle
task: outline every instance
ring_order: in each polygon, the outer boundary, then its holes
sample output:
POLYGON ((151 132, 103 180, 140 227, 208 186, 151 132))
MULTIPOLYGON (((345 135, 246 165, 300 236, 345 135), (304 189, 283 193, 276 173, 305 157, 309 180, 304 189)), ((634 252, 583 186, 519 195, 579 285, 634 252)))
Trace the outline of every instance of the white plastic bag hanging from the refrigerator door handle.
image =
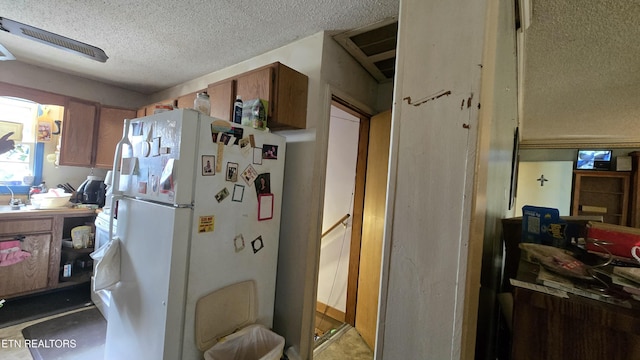
POLYGON ((89 254, 96 261, 93 270, 93 291, 106 290, 120 281, 120 239, 102 245, 89 254))

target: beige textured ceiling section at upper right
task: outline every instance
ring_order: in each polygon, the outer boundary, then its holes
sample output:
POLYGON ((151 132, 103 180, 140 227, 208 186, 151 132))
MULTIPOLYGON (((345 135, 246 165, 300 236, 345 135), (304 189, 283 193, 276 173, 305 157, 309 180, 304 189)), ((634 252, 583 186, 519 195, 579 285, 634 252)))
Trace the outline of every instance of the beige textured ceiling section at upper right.
POLYGON ((523 140, 607 138, 637 123, 640 1, 532 5, 525 32, 523 140))

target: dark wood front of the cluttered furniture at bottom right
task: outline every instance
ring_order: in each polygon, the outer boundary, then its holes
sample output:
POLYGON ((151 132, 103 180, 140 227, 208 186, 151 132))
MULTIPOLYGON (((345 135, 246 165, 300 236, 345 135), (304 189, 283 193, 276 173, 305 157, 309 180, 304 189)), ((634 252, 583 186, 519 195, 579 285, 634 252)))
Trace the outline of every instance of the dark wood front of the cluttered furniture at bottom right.
POLYGON ((640 309, 514 291, 512 360, 640 359, 640 309))

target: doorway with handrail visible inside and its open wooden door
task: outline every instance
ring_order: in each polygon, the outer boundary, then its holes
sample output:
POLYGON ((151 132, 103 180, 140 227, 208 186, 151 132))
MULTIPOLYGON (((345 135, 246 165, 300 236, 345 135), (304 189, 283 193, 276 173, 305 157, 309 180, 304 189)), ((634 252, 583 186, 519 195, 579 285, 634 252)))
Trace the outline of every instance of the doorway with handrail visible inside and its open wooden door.
POLYGON ((370 118, 332 102, 316 346, 351 326, 374 348, 390 128, 390 111, 370 118))

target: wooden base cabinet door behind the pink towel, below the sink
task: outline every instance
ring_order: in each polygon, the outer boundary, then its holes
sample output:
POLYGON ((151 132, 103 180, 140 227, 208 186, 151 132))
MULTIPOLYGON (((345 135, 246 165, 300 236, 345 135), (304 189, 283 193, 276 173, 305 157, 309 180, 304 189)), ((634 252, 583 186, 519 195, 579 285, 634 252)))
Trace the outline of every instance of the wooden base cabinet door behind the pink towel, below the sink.
MULTIPOLYGON (((49 279, 49 251, 52 234, 27 235, 22 250, 31 254, 25 260, 0 267, 0 298, 44 289, 49 279)), ((1 238, 0 240, 11 240, 1 238)))

